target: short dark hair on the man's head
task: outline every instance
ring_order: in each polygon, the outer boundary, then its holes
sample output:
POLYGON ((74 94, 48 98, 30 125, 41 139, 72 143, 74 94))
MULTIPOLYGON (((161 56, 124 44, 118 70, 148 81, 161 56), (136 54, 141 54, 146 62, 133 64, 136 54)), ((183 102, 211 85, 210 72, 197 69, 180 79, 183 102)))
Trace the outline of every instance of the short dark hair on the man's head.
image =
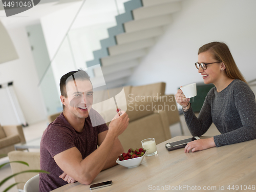
MULTIPOLYGON (((59 82, 59 88, 60 88, 60 94, 64 97, 68 97, 67 95, 67 90, 66 90, 66 83, 68 83, 69 81, 71 80, 90 80, 90 76, 88 75, 88 73, 82 69, 79 69, 77 71, 71 71, 65 75, 63 75, 61 78, 60 78, 60 82, 59 82)), ((92 83, 92 82, 91 82, 92 83)), ((64 109, 64 105, 63 106, 63 109, 64 109)))

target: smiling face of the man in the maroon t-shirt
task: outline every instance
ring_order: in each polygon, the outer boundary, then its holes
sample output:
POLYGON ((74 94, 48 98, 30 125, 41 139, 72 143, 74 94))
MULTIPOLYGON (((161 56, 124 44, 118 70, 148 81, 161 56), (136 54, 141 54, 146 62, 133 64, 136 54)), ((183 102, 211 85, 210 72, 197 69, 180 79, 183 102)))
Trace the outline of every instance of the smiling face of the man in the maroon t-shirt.
POLYGON ((87 118, 93 103, 92 83, 89 80, 70 80, 66 91, 67 98, 61 96, 65 114, 71 118, 87 118))

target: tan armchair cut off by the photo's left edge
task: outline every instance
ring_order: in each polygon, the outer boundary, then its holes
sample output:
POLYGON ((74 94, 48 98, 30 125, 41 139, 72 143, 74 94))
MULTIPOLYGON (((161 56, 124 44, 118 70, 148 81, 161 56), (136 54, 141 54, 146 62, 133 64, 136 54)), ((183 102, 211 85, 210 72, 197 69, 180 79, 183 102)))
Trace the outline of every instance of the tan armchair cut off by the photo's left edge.
MULTIPOLYGON (((25 143, 22 125, 0 125, 0 154, 6 155, 14 150, 17 143, 25 143)), ((3 157, 3 156, 1 156, 3 157)))

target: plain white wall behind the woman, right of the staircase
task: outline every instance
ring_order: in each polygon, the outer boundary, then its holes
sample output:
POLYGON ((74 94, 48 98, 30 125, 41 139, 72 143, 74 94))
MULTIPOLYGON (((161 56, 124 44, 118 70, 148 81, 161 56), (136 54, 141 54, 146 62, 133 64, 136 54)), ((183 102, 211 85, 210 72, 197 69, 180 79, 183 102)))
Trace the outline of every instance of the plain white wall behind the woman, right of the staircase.
POLYGON ((225 42, 246 80, 255 79, 255 7, 254 0, 184 0, 129 84, 164 81, 166 94, 175 94, 180 86, 203 82, 194 63, 198 49, 210 41, 225 42))

